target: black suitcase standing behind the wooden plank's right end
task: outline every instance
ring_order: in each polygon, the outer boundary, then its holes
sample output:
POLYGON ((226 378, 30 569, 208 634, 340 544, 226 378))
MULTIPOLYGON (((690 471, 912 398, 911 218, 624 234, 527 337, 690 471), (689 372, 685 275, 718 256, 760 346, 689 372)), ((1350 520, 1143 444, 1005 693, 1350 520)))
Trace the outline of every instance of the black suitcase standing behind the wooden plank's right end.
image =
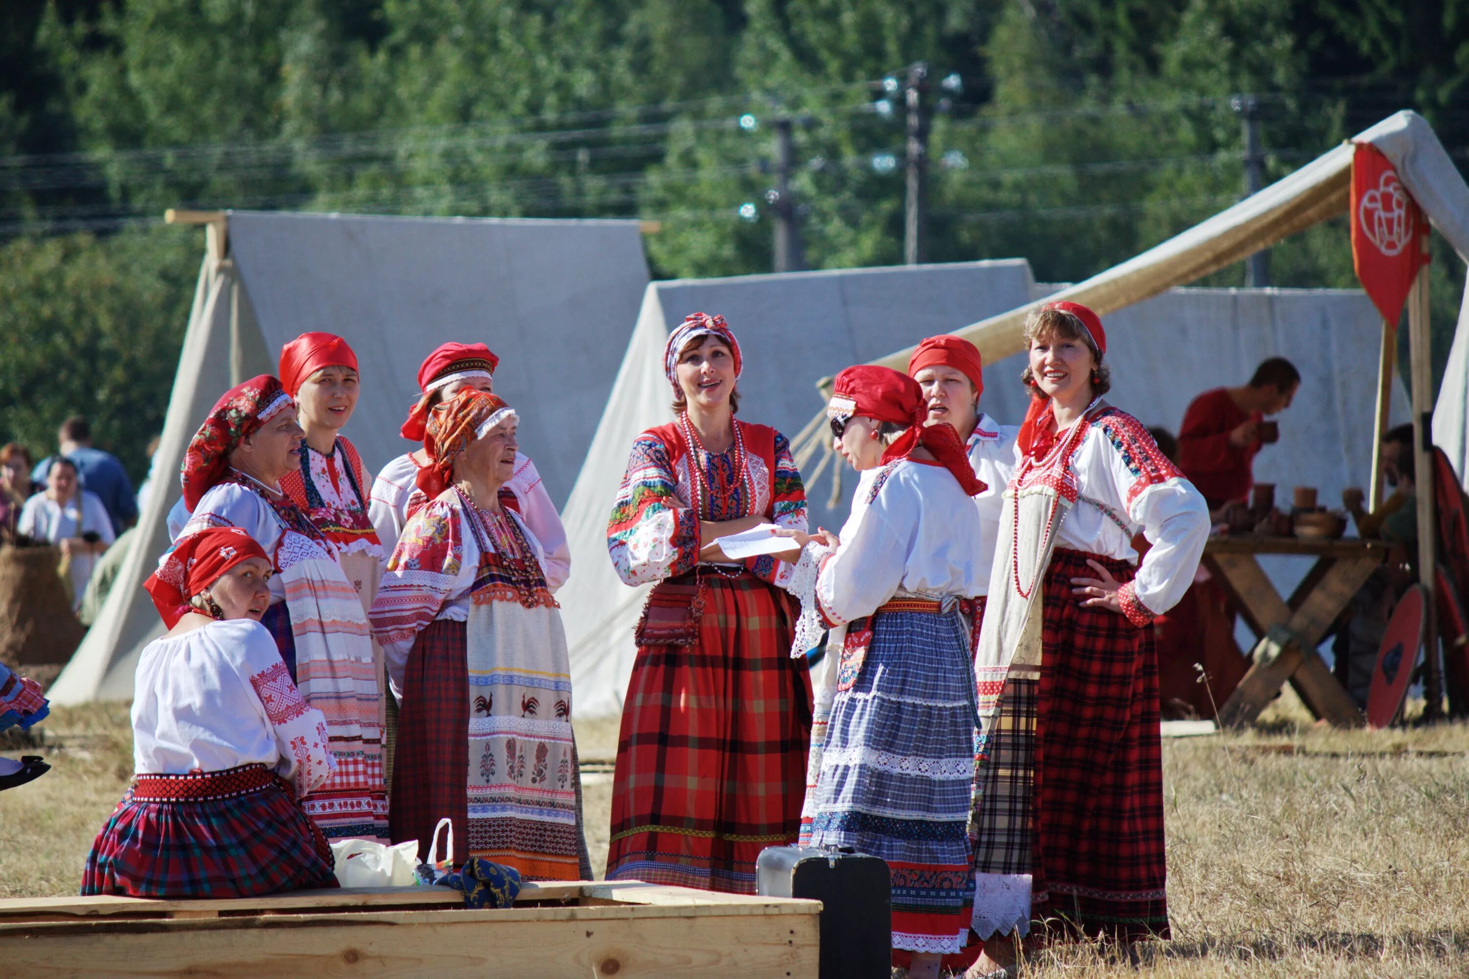
POLYGON ((755 862, 765 897, 821 901, 821 979, 889 979, 892 876, 881 857, 849 848, 767 847, 755 862))

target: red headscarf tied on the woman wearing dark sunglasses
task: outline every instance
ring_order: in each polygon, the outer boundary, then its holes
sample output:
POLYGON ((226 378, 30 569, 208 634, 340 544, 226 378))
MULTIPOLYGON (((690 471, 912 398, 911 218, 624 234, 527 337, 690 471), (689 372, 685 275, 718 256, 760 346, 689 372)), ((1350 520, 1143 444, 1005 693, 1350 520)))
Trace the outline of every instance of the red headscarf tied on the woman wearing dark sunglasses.
POLYGON ((953 426, 940 423, 924 427, 928 407, 924 404, 918 382, 906 374, 871 364, 848 367, 833 382, 827 414, 839 418, 861 415, 906 426, 908 430, 883 452, 883 462, 906 458, 921 445, 953 474, 953 478, 959 480, 965 493, 974 496, 986 489, 974 476, 974 465, 970 464, 953 426))

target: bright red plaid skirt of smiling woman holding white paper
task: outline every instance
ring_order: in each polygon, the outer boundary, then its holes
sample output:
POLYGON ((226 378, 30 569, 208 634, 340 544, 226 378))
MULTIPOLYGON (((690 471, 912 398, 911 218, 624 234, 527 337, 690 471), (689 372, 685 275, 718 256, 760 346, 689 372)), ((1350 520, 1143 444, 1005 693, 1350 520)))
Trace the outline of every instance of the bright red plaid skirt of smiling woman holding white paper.
POLYGON ((704 577, 699 643, 643 646, 623 706, 608 879, 755 892, 755 859, 796 842, 811 677, 783 592, 704 577))

